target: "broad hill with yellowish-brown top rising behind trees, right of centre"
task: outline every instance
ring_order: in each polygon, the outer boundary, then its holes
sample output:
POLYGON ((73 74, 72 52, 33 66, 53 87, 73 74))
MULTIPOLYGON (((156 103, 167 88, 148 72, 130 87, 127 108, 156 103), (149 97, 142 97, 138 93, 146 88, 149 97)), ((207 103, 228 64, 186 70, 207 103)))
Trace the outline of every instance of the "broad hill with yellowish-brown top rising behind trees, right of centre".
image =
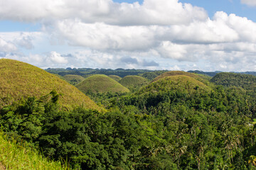
POLYGON ((173 91, 181 90, 188 92, 195 91, 210 91, 210 87, 203 84, 201 81, 198 81, 192 77, 186 75, 174 75, 171 77, 164 77, 157 81, 152 82, 148 86, 143 87, 139 94, 145 92, 156 93, 159 91, 173 91))

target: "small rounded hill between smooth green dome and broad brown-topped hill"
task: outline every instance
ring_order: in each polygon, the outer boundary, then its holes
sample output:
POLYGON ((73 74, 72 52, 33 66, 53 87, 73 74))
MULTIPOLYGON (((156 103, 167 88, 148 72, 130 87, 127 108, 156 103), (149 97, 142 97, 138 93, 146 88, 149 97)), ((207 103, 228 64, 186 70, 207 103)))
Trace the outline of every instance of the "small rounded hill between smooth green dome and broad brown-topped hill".
POLYGON ((139 89, 140 87, 149 84, 149 80, 139 76, 127 76, 122 78, 119 83, 128 89, 139 89))

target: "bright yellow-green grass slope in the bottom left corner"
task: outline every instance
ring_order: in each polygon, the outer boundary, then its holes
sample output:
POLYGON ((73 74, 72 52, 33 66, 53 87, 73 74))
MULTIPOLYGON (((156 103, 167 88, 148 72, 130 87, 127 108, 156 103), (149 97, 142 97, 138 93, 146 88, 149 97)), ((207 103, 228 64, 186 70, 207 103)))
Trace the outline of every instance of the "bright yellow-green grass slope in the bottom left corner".
POLYGON ((61 165, 61 162, 53 162, 39 154, 28 145, 18 145, 16 141, 9 141, 6 135, 0 132, 0 169, 23 169, 23 170, 55 170, 69 169, 61 165))

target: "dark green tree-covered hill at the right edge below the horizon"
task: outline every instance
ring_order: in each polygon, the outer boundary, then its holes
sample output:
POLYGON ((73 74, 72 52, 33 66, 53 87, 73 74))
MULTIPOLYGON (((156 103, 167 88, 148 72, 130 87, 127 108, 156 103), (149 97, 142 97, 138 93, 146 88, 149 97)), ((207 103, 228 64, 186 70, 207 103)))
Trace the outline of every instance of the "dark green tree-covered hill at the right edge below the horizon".
POLYGON ((222 72, 216 74, 210 81, 216 85, 240 86, 247 90, 252 90, 256 87, 256 77, 249 74, 222 72))

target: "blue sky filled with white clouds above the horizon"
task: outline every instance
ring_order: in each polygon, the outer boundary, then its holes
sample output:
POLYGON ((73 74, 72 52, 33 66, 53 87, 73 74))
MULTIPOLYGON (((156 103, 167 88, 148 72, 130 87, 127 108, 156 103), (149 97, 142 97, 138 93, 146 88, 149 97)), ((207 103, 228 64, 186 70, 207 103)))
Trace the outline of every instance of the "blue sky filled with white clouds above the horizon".
POLYGON ((256 71, 256 0, 0 0, 0 58, 44 69, 256 71))

